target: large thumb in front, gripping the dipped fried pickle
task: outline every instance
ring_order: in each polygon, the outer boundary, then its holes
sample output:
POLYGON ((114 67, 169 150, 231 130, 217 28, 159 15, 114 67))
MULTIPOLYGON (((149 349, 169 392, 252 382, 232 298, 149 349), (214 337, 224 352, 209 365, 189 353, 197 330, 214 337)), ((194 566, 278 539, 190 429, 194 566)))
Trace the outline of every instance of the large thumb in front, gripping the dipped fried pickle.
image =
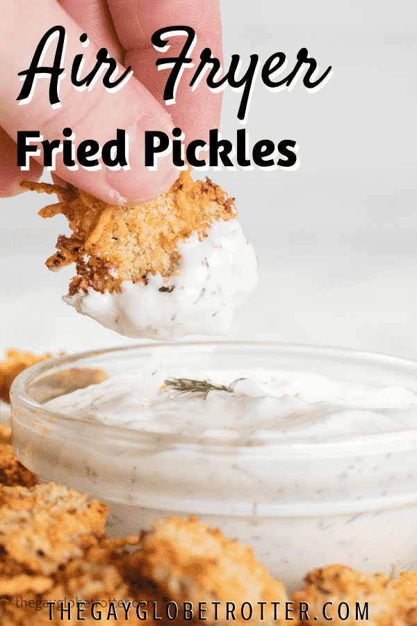
MULTIPOLYGON (((83 30, 54 0, 40 0, 27 3, 14 0, 1 3, 0 20, 3 35, 0 40, 0 61, 2 81, 0 85, 0 124, 8 135, 17 141, 17 131, 38 131, 44 140, 59 140, 62 145, 63 129, 70 128, 75 134, 74 145, 84 140, 95 140, 100 147, 107 141, 115 140, 117 129, 129 134, 130 169, 110 170, 101 160, 101 169, 90 170, 78 165, 78 169, 68 169, 63 163, 63 153, 56 153, 55 172, 58 176, 101 200, 113 204, 132 204, 155 198, 167 189, 177 178, 171 158, 158 159, 156 170, 145 168, 145 131, 163 131, 171 136, 173 124, 161 104, 142 84, 131 77, 118 91, 109 93, 102 78, 108 69, 104 65, 97 82, 88 89, 76 90, 71 82, 74 57, 83 54, 84 65, 78 73, 79 79, 86 77, 97 64, 98 48, 92 42, 83 47, 80 37, 83 30), (28 70, 33 54, 43 35, 55 26, 64 26, 67 40, 65 54, 60 67, 65 68, 59 83, 60 105, 53 108, 49 102, 51 75, 35 80, 32 97, 17 101, 24 83, 19 72, 28 70)), ((85 42, 87 43, 87 42, 85 42)), ((54 65, 58 47, 58 36, 49 44, 42 67, 54 65)), ((124 68, 117 65, 117 76, 121 77, 124 68)), ((26 79, 26 75, 22 77, 26 79)), ((31 141, 35 145, 36 139, 31 141)), ((43 148, 38 141, 40 154, 35 159, 43 163, 43 148)), ((77 159, 75 159, 77 162, 77 159)))

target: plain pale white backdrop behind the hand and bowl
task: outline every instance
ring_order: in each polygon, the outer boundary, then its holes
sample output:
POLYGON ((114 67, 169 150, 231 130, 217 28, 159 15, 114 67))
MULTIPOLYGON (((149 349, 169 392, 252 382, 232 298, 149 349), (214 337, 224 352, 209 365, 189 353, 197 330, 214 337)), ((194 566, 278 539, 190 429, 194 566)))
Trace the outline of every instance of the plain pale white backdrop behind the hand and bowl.
MULTIPOLYGON (((226 65, 306 47, 318 93, 298 81, 270 93, 256 79, 247 131, 294 139, 295 172, 207 172, 236 196, 261 280, 227 338, 345 346, 417 358, 416 4, 414 0, 224 0, 226 65)), ((284 75, 284 74, 283 74, 284 75)), ((204 88, 201 83, 199 88, 204 88)), ((236 141, 240 94, 224 91, 223 138, 236 141)), ((48 178, 45 178, 48 179, 48 178)), ((69 352, 135 343, 60 299, 73 268, 44 260, 66 220, 42 220, 50 196, 0 200, 0 351, 69 352)))

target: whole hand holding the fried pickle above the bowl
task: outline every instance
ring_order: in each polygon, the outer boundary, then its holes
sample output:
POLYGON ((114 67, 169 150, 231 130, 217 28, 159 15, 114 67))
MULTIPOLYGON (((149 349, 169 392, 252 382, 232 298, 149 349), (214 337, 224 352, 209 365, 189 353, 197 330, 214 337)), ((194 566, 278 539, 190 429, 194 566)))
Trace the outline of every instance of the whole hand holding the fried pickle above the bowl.
MULTIPOLYGON (((208 141, 208 130, 220 122, 221 93, 213 94, 204 81, 194 92, 189 83, 193 74, 187 70, 179 83, 176 104, 163 103, 163 90, 170 70, 158 71, 155 63, 163 54, 154 49, 152 34, 163 26, 192 26, 197 35, 193 49, 195 71, 202 49, 209 47, 213 56, 221 57, 221 26, 218 0, 8 0, 1 3, 0 38, 0 196, 22 192, 24 179, 38 180, 42 166, 31 157, 29 171, 17 167, 17 131, 39 131, 44 139, 63 141, 63 129, 70 127, 78 145, 84 139, 95 139, 102 146, 116 137, 116 129, 129 129, 130 170, 89 171, 79 166, 68 170, 62 154, 56 159, 56 175, 101 200, 113 204, 132 204, 155 198, 168 188, 179 172, 172 156, 158 159, 158 168, 145 168, 143 140, 145 130, 171 134, 178 126, 193 139, 208 141), (27 70, 40 39, 52 26, 62 25, 67 32, 67 47, 61 66, 66 77, 60 83, 62 108, 49 103, 49 79, 39 78, 31 102, 19 105, 16 98, 22 88, 19 72, 27 70), (82 47, 80 36, 87 33, 90 44, 82 47), (85 65, 81 77, 92 70, 99 48, 106 47, 125 66, 131 65, 133 77, 117 93, 108 93, 102 76, 92 90, 77 91, 71 83, 72 62, 83 54, 85 65), (133 131, 131 131, 133 127, 133 131)), ((177 56, 185 37, 173 37, 170 56, 177 56)), ((56 40, 49 45, 43 65, 52 65, 56 40)), ((166 54, 166 53, 165 53, 166 54)), ((122 74, 122 68, 118 76, 122 74)))

